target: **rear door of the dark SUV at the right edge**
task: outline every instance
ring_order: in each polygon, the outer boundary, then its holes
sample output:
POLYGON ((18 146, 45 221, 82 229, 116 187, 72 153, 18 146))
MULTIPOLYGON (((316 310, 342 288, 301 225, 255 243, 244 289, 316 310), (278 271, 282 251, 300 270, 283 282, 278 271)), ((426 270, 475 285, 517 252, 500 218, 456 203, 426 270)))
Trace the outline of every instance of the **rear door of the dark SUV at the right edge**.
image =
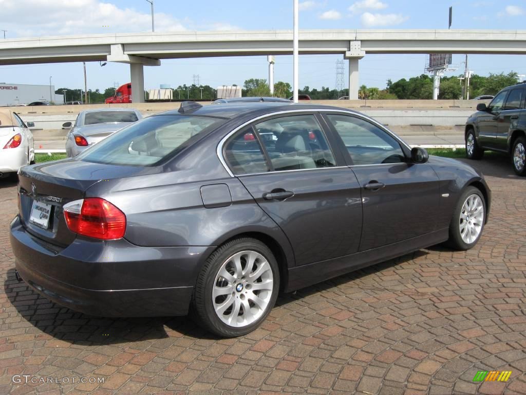
POLYGON ((495 146, 497 150, 508 152, 508 136, 519 122, 524 101, 524 86, 519 85, 510 90, 506 102, 499 114, 495 146))

